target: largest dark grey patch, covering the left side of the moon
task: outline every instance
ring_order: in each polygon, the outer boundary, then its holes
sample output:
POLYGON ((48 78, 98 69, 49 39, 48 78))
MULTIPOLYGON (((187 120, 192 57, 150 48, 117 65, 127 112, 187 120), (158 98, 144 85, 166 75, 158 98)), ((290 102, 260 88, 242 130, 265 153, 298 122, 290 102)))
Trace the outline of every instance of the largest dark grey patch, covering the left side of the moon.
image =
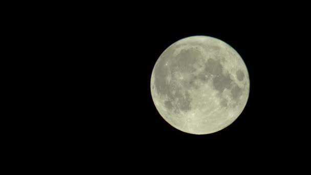
MULTIPOLYGON (((191 110, 192 98, 188 91, 198 88, 198 77, 193 75, 196 72, 193 64, 203 60, 203 55, 200 51, 189 48, 182 49, 173 57, 174 49, 175 47, 168 48, 160 56, 154 67, 152 89, 157 90, 160 98, 167 98, 164 101, 167 110, 179 114, 191 110), (167 81, 167 77, 171 77, 171 81, 167 81)), ((205 75, 201 79, 207 79, 205 75)))

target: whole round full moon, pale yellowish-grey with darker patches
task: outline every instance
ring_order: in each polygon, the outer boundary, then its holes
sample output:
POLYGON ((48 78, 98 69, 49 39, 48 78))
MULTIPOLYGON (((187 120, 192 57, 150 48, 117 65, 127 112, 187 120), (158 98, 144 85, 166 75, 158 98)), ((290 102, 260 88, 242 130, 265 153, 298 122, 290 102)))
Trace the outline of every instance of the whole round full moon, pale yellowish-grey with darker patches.
POLYGON ((165 121, 182 132, 204 135, 238 118, 249 98, 250 79, 245 62, 226 42, 190 36, 161 54, 150 89, 165 121))

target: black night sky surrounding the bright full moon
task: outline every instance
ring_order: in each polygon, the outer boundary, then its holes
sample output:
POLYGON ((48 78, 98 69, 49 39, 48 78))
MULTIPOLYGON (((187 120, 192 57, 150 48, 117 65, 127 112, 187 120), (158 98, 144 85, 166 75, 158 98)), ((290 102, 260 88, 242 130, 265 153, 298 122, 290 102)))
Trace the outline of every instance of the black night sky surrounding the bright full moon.
POLYGON ((161 169, 159 164, 177 162, 241 163, 264 171, 299 162, 308 154, 303 5, 201 6, 3 6, 5 171, 161 169), (227 42, 250 75, 245 110, 210 135, 173 128, 151 99, 157 59, 173 42, 193 35, 227 42))

